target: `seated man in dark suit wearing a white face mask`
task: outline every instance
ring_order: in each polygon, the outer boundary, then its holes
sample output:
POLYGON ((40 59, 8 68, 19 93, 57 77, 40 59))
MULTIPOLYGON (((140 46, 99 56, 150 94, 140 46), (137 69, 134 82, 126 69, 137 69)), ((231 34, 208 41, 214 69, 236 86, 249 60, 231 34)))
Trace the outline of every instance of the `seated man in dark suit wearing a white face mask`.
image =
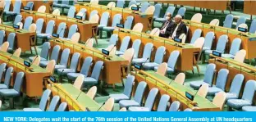
POLYGON ((171 13, 167 13, 166 21, 162 24, 162 27, 160 28, 160 37, 168 38, 171 33, 171 26, 174 24, 171 20, 171 13))

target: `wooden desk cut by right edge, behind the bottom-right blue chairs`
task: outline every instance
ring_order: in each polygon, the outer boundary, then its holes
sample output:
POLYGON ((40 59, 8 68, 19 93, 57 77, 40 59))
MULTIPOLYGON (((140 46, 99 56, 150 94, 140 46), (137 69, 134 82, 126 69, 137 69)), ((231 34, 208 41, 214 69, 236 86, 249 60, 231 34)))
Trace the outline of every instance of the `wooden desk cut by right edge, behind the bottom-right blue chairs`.
MULTIPOLYGON (((244 92, 246 82, 250 79, 256 80, 255 66, 250 66, 245 63, 240 63, 238 61, 234 61, 231 58, 217 57, 217 56, 213 56, 212 54, 210 56, 213 57, 213 59, 209 59, 208 62, 215 64, 217 71, 223 68, 229 70, 228 79, 226 81, 226 91, 230 90, 232 80, 237 74, 242 74, 245 76, 245 80, 242 84, 241 91, 240 91, 240 97, 244 92)), ((254 97, 254 102, 256 102, 256 97, 254 97)))

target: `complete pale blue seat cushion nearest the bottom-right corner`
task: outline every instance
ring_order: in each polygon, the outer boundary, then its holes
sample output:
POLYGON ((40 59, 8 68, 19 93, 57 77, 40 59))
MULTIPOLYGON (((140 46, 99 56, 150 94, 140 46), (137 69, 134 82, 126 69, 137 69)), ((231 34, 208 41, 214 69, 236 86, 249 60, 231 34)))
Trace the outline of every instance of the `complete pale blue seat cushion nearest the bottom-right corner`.
POLYGON ((227 106, 231 106, 236 110, 240 110, 243 106, 251 106, 252 103, 243 99, 231 99, 226 102, 227 106))

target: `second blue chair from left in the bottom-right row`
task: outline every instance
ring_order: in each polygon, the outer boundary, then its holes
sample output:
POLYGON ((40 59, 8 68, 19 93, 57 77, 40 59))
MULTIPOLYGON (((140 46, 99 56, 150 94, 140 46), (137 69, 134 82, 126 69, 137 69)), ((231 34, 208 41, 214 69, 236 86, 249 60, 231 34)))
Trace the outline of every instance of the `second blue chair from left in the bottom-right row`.
POLYGON ((214 96, 215 93, 225 91, 228 74, 229 74, 229 70, 226 70, 226 69, 221 69, 218 72, 216 85, 213 85, 213 87, 208 88, 208 96, 214 96))

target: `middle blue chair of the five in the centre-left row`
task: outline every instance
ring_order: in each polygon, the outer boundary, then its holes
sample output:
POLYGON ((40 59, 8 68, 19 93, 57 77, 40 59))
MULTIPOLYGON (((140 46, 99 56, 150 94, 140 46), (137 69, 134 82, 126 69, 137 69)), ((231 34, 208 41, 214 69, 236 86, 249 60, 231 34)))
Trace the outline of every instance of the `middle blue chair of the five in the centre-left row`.
POLYGON ((68 62, 68 59, 69 59, 69 56, 70 56, 70 52, 71 51, 70 51, 69 48, 66 48, 66 49, 63 50, 62 56, 61 56, 61 61, 58 65, 55 65, 54 70, 63 69, 63 68, 67 67, 67 62, 68 62))

